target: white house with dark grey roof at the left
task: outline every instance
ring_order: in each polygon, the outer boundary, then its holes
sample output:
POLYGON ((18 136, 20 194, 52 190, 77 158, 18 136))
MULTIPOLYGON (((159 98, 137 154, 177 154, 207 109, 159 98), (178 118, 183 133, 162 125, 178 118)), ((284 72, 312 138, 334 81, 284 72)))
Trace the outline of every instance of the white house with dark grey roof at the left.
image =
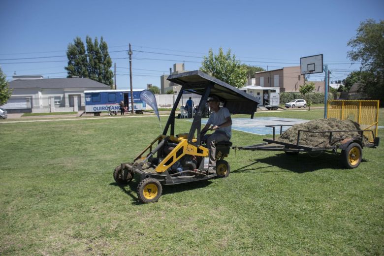
POLYGON ((108 85, 89 78, 13 76, 12 96, 1 107, 8 113, 46 113, 84 110, 85 90, 108 90, 108 85))

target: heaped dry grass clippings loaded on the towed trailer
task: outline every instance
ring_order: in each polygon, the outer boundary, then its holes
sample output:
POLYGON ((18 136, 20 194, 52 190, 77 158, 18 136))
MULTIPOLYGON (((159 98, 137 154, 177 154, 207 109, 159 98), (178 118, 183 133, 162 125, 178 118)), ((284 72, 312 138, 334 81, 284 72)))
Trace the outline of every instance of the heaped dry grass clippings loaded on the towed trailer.
MULTIPOLYGON (((297 124, 286 130, 277 141, 296 144, 298 130, 308 131, 328 131, 328 130, 361 130, 359 124, 351 120, 340 120, 336 118, 316 119, 303 124, 297 124)), ((359 132, 333 132, 332 141, 329 143, 329 132, 312 133, 300 132, 299 145, 307 147, 329 147, 340 145, 340 142, 345 138, 358 137, 359 132)))

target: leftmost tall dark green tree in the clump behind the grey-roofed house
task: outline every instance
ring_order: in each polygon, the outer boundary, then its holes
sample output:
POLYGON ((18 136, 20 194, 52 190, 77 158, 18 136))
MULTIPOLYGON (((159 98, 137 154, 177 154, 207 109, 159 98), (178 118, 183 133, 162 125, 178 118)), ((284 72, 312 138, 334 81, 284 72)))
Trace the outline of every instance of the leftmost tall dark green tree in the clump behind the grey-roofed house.
POLYGON ((89 77, 87 53, 80 37, 77 36, 73 40, 73 44, 68 44, 66 56, 68 58, 68 65, 65 67, 67 77, 89 77))

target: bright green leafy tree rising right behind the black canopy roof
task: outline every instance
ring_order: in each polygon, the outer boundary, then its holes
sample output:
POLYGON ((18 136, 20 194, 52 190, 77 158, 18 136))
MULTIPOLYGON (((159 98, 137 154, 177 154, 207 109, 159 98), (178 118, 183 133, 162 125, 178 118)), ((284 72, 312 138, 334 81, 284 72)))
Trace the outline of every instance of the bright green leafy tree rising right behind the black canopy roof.
POLYGON ((235 55, 231 56, 230 49, 224 54, 220 47, 218 55, 209 49, 200 70, 237 88, 242 88, 247 82, 247 68, 236 60, 235 55))

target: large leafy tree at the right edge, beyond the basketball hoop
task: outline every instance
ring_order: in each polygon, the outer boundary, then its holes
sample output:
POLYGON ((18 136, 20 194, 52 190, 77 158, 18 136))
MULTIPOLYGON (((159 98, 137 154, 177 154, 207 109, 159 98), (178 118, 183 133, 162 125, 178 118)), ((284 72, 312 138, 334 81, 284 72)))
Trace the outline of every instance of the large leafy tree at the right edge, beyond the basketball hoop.
POLYGON ((368 19, 360 23, 356 36, 348 41, 348 57, 360 61, 363 92, 372 99, 384 100, 384 21, 368 19))

